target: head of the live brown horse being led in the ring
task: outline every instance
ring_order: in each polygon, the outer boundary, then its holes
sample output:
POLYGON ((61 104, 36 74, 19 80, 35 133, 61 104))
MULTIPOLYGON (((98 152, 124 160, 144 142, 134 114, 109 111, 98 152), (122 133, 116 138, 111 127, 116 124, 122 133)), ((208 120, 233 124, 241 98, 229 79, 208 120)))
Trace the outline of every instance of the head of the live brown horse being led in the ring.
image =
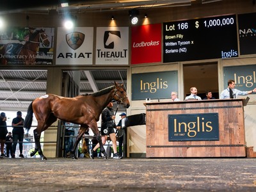
POLYGON ((115 82, 115 92, 113 99, 115 99, 118 103, 121 103, 125 108, 129 108, 130 101, 126 95, 124 83, 118 84, 115 82))

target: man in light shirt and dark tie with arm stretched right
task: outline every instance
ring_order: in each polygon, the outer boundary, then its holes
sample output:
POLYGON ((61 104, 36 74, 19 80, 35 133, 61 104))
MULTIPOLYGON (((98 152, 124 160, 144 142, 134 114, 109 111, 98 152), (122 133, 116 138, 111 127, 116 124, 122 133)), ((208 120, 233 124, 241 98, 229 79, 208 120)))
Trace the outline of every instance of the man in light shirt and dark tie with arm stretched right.
POLYGON ((241 92, 237 89, 235 89, 235 81, 232 79, 228 80, 228 88, 223 90, 220 94, 220 99, 236 99, 238 95, 248 95, 253 92, 256 92, 256 88, 254 88, 252 91, 248 92, 241 92))

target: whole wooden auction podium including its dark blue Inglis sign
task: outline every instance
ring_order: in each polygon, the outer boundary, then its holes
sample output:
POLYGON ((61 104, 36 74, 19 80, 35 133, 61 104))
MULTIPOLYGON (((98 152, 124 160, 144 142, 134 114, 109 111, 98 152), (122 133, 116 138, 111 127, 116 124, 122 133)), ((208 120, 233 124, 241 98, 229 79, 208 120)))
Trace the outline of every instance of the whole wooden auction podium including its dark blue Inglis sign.
POLYGON ((243 103, 244 99, 145 103, 146 157, 245 157, 243 103))

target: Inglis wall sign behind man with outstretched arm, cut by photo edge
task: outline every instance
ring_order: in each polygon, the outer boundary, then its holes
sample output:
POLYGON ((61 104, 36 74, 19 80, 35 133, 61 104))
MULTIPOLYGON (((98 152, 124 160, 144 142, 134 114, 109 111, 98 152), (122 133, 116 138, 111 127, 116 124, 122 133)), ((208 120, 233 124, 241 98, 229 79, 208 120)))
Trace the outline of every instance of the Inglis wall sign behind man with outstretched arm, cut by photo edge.
POLYGON ((228 86, 228 80, 236 83, 237 90, 248 91, 256 87, 256 65, 241 65, 224 67, 224 87, 228 86))

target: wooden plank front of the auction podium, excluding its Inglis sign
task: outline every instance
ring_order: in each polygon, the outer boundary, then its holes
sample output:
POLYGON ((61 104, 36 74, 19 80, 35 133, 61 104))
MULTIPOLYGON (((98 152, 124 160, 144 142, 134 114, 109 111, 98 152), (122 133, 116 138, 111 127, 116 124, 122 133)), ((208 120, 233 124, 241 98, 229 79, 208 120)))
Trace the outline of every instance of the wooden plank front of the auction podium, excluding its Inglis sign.
POLYGON ((243 99, 146 103, 147 157, 245 157, 243 99), (218 141, 169 141, 168 115, 218 113, 218 141))

